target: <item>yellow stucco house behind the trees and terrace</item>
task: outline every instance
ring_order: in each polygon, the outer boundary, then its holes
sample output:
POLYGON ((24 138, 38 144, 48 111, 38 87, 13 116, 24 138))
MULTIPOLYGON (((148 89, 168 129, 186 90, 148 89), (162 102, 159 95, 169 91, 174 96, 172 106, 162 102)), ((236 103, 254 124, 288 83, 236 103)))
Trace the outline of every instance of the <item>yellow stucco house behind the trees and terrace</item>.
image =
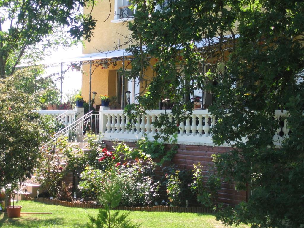
MULTIPOLYGON (((132 58, 125 51, 128 47, 125 44, 125 37, 130 35, 126 21, 131 20, 133 14, 128 6, 127 0, 110 0, 98 2, 93 9, 93 17, 97 20, 96 29, 91 42, 86 41, 82 51, 87 57, 92 57, 92 60, 82 64, 81 91, 85 101, 90 101, 92 92, 97 92, 96 104, 100 104, 99 95, 109 95, 110 98, 112 97, 110 105, 116 101, 123 108, 126 105, 124 95, 126 91, 131 92, 130 103, 134 103, 136 96, 146 88, 142 82, 122 79, 123 76, 118 72, 121 67, 130 69, 132 58)), ((203 44, 200 45, 203 46, 203 44)), ((156 59, 152 59, 151 65, 155 61, 156 59)), ((208 70, 208 65, 202 66, 202 71, 208 70)), ((152 75, 152 69, 150 71, 152 75)), ((149 72, 147 74, 149 75, 149 72)), ((208 107, 214 99, 212 94, 202 90, 195 91, 194 95, 202 97, 202 109, 208 107)), ((190 95, 188 99, 191 98, 190 95)), ((119 108, 119 105, 116 108, 119 108)))

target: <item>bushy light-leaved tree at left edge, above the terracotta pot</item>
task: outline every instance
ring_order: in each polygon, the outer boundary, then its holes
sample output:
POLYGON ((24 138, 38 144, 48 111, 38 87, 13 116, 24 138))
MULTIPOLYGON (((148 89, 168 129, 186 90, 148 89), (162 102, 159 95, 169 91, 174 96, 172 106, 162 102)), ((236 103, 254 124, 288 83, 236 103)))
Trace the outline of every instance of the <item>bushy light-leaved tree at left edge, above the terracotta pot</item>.
POLYGON ((31 177, 44 136, 33 97, 16 89, 18 80, 0 81, 0 188, 31 177))

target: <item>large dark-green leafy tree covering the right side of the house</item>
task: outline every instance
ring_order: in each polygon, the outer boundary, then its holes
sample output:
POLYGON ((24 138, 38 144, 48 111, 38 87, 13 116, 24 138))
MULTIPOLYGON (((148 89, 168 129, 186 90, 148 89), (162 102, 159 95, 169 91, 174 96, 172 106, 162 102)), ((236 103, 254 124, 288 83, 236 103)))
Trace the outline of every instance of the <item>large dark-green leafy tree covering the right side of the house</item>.
MULTIPOLYGON (((215 156, 217 172, 227 181, 233 179, 237 189, 251 193, 248 202, 222 210, 218 218, 252 227, 303 226, 299 215, 304 213, 304 3, 135 0, 133 4, 136 12, 129 28, 135 58, 126 74, 148 82, 136 112, 169 98, 182 101, 172 113, 183 121, 193 106, 185 97, 194 95, 195 89, 211 90, 216 96, 209 110, 218 118, 211 131, 213 140, 232 145, 230 153, 215 156), (157 4, 163 6, 161 11, 155 10, 157 4), (197 48, 198 42, 206 47, 197 48), (152 64, 151 58, 157 62, 152 64), (208 64, 210 71, 202 73, 201 64, 208 64), (155 72, 153 80, 146 75, 149 68, 155 72), (273 137, 283 124, 290 131, 283 132, 285 140, 277 146, 273 137)), ((166 120, 164 115, 155 124, 163 126, 168 136, 177 127, 166 120)))

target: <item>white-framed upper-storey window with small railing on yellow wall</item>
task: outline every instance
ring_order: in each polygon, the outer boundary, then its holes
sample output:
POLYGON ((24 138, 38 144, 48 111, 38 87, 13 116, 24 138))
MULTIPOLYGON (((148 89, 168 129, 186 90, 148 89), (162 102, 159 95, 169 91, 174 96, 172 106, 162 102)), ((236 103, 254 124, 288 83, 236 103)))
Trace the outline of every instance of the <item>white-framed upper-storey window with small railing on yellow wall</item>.
POLYGON ((129 9, 131 3, 128 0, 115 0, 114 4, 114 20, 111 22, 119 23, 123 20, 129 21, 132 20, 133 10, 129 9))

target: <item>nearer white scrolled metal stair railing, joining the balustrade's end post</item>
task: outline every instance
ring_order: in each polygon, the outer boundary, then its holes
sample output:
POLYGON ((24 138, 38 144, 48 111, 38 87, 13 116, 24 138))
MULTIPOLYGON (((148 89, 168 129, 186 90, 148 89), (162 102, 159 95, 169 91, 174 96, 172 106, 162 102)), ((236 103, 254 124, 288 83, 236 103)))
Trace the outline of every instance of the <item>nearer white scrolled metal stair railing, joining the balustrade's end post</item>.
POLYGON ((81 118, 56 132, 52 137, 52 140, 55 142, 60 137, 67 137, 68 142, 77 144, 80 148, 85 148, 87 146, 87 142, 85 142, 86 133, 92 131, 93 133, 98 134, 98 121, 98 112, 88 112, 81 118))

